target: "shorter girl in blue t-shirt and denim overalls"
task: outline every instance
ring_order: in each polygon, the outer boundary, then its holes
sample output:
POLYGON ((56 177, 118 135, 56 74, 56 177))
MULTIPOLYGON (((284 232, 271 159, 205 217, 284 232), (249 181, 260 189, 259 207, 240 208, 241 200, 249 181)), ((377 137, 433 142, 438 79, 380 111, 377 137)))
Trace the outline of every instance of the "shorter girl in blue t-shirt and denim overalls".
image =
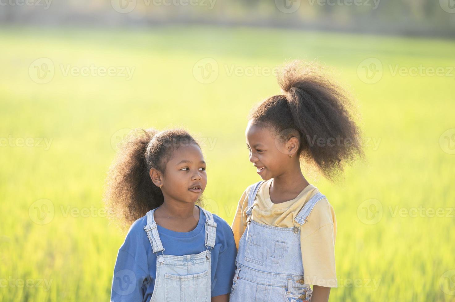
POLYGON ((201 148, 181 129, 133 131, 106 182, 110 214, 131 227, 111 301, 228 301, 237 249, 230 226, 196 203, 207 184, 201 148))

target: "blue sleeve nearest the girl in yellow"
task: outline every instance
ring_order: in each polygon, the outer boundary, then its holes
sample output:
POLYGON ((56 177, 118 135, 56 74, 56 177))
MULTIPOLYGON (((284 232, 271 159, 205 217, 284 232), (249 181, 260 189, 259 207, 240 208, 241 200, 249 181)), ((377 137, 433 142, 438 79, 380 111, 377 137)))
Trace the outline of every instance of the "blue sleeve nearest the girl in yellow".
MULTIPOLYGON (((221 218, 220 218, 221 219, 221 218)), ((225 295, 231 292, 232 282, 235 273, 235 258, 237 249, 234 236, 229 224, 224 220, 218 222, 223 231, 223 249, 218 254, 217 269, 213 280, 212 297, 225 295)), ((218 228, 218 227, 217 227, 218 228)))

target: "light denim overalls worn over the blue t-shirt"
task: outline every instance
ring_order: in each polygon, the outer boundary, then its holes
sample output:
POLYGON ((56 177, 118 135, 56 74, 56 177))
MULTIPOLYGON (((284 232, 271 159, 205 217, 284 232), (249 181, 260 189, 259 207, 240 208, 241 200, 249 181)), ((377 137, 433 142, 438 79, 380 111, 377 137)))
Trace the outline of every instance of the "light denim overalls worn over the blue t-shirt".
POLYGON ((205 246, 207 249, 197 255, 165 255, 153 218, 155 209, 147 212, 144 230, 157 254, 157 275, 150 302, 210 302, 212 296, 212 263, 210 252, 215 246, 217 223, 212 213, 199 207, 206 217, 205 246), (210 247, 210 251, 208 248, 210 247), (161 252, 158 255, 158 252, 161 252))

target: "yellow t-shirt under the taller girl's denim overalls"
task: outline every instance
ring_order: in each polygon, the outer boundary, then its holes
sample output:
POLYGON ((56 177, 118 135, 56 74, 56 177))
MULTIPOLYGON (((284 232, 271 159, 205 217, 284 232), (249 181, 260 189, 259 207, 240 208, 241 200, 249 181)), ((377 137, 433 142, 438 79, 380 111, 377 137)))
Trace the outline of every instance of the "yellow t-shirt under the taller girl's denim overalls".
MULTIPOLYGON (((272 203, 269 179, 261 184, 254 198, 252 219, 266 225, 290 228, 294 218, 303 205, 316 193, 318 188, 309 184, 298 196, 284 203, 272 203)), ((238 202, 237 213, 232 223, 235 243, 238 242, 247 227, 248 194, 252 185, 243 192, 238 202)), ((324 287, 338 287, 335 271, 335 235, 337 222, 335 212, 327 198, 319 200, 308 216, 308 221, 300 228, 300 248, 305 283, 324 287)))

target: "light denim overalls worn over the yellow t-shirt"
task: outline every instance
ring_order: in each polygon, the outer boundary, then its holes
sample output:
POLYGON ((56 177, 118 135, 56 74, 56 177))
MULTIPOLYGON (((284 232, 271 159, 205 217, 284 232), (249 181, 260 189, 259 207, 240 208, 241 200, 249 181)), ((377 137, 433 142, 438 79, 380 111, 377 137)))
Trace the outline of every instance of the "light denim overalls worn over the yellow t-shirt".
POLYGON ((247 229, 239 241, 230 301, 308 302, 312 290, 303 278, 300 227, 325 196, 318 192, 311 197, 295 217, 294 227, 273 227, 252 219, 262 183, 254 184, 248 196, 247 229))

